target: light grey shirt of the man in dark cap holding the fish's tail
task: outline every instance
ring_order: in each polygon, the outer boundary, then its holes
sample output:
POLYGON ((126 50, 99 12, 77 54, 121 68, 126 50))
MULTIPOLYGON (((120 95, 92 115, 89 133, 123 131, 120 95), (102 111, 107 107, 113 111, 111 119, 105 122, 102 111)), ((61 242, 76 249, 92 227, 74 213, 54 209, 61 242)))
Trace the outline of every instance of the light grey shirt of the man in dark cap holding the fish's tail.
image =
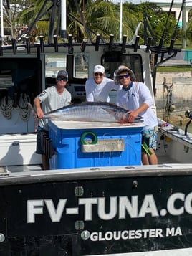
MULTIPOLYGON (((58 93, 55 86, 48 87, 37 95, 36 98, 39 98, 44 114, 69 105, 72 101, 72 96, 66 88, 64 88, 63 93, 58 93)), ((44 127, 47 122, 48 120, 42 118, 39 120, 39 126, 44 127)))

